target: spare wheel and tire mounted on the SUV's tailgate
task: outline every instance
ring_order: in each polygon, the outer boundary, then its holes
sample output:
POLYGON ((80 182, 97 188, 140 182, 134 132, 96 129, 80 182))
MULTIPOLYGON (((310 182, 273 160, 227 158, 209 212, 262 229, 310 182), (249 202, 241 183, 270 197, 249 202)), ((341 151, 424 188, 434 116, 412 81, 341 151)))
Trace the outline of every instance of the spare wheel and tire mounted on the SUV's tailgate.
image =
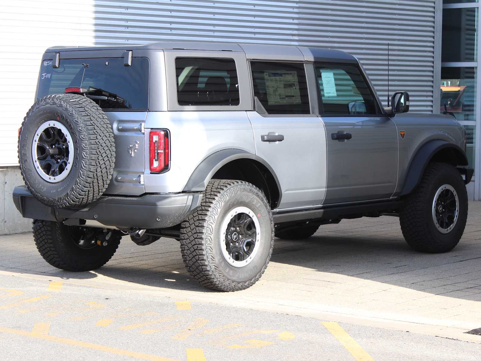
POLYGON ((18 160, 40 202, 86 206, 105 192, 114 172, 114 132, 102 109, 77 94, 38 100, 20 129, 18 160))

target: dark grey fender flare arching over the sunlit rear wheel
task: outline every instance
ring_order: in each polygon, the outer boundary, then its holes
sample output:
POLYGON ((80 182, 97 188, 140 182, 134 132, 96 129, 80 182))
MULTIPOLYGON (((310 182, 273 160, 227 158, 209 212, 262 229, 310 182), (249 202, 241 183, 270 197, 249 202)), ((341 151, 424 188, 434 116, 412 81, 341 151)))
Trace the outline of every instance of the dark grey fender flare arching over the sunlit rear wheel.
POLYGON ((224 149, 204 158, 203 161, 197 166, 197 168, 194 169, 194 171, 190 175, 189 181, 187 181, 182 192, 204 191, 207 187, 207 183, 209 183, 209 181, 212 179, 215 172, 222 168, 222 166, 236 159, 252 159, 265 166, 276 181, 279 190, 280 201, 282 191, 274 169, 272 169, 272 167, 261 157, 253 155, 252 153, 246 152, 241 149, 224 149))

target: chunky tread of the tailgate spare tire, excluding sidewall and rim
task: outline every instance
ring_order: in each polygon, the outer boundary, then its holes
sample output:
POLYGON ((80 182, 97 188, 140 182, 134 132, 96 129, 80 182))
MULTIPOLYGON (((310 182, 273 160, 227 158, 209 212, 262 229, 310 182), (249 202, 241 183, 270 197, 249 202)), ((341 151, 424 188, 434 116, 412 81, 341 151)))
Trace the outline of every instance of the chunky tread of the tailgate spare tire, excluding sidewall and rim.
MULTIPOLYGON (((78 140, 82 143, 83 149, 79 176, 65 195, 58 198, 42 196, 26 180, 19 152, 18 161, 22 177, 30 193, 48 206, 56 208, 87 206, 105 192, 114 173, 115 142, 112 126, 101 107, 91 99, 78 94, 54 94, 41 98, 32 105, 22 122, 20 135, 28 116, 44 105, 62 108, 77 126, 78 140)), ((20 149, 20 137, 18 143, 20 149)))

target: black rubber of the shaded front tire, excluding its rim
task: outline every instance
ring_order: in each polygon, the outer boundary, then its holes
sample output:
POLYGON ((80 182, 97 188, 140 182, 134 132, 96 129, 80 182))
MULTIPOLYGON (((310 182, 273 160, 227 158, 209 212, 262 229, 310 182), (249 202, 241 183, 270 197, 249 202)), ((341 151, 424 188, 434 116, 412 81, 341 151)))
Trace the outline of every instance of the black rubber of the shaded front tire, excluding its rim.
MULTIPOLYGON (((452 250, 459 242, 452 242, 446 244, 441 241, 441 237, 436 238, 430 229, 427 227, 428 222, 432 222, 430 214, 426 214, 426 203, 431 203, 430 199, 430 184, 436 179, 440 172, 451 172, 455 177, 459 178, 459 182, 462 184, 461 189, 465 192, 463 195, 464 199, 467 199, 467 191, 464 186, 464 181, 461 177, 459 171, 453 166, 446 163, 430 163, 426 168, 422 179, 418 185, 416 191, 410 194, 406 199, 402 210, 399 213, 399 222, 401 225, 401 230, 407 244, 419 252, 426 253, 443 253, 452 250)), ((460 194, 458 195, 459 198, 460 194)), ((460 211, 461 207, 465 206, 465 212, 468 214, 468 202, 465 205, 459 203, 460 211)), ((458 218, 457 222, 463 222, 462 219, 458 218)), ((464 224, 462 224, 462 229, 466 225, 466 219, 464 219, 464 224)), ((457 227, 457 224, 456 224, 457 227)), ((435 233, 434 233, 435 234, 435 233)), ((436 234, 438 235, 438 234, 436 234)), ((441 233, 439 233, 441 235, 441 233)))

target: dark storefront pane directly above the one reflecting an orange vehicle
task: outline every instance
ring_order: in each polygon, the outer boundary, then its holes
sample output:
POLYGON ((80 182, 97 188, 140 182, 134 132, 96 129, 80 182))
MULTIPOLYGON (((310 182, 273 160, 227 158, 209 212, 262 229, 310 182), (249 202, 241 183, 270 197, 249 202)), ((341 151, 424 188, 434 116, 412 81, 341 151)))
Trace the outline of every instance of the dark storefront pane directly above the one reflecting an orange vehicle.
POLYGON ((444 9, 442 62, 477 60, 477 23, 478 8, 444 9))

